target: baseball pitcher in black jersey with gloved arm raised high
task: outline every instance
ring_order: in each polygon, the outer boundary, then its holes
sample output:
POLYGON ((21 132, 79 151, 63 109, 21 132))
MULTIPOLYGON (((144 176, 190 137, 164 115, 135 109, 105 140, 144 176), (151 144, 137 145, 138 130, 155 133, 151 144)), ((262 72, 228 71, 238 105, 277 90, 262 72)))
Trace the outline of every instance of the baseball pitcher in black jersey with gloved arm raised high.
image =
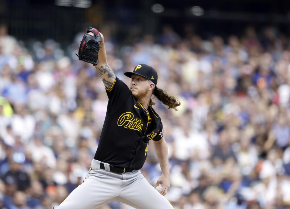
POLYGON ((151 97, 155 95, 175 110, 180 102, 156 87, 157 72, 146 64, 125 73, 131 79, 128 88, 108 66, 104 37, 95 28, 87 29, 78 56, 96 67, 105 85, 108 107, 98 149, 84 183, 53 208, 94 209, 113 201, 142 209, 173 208, 164 197, 169 188, 168 149, 151 97), (140 172, 150 140, 162 170, 155 187, 140 172))

